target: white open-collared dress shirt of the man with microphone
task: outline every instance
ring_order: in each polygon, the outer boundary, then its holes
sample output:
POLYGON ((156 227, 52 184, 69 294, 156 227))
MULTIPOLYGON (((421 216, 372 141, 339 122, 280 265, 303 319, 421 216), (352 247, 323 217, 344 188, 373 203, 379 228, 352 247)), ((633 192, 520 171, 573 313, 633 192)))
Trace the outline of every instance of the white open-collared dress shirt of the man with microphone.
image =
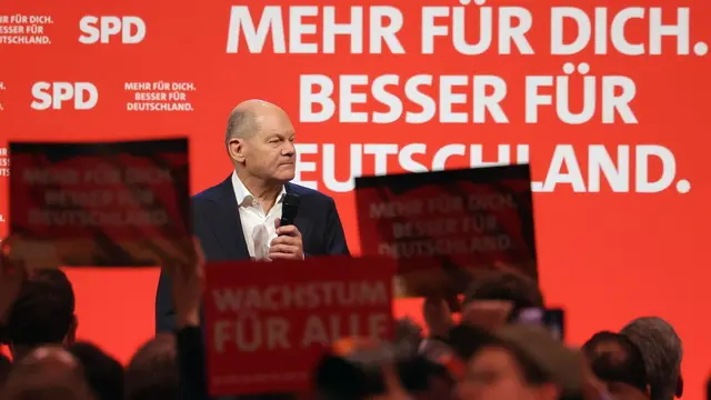
POLYGON ((258 260, 266 260, 269 258, 269 243, 277 238, 274 221, 281 219, 281 203, 287 190, 282 187, 274 206, 269 212, 264 212, 259 201, 237 177, 237 171, 232 172, 232 187, 240 210, 240 222, 249 256, 258 260))

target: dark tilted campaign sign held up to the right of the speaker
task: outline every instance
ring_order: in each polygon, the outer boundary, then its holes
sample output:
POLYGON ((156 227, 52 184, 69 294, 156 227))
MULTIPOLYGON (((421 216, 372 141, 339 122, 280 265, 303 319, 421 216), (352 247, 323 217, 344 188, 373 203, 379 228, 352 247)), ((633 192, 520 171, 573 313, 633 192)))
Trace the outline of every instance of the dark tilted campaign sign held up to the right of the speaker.
POLYGON ((398 260, 397 297, 462 293, 477 271, 537 278, 528 164, 356 179, 362 252, 398 260))

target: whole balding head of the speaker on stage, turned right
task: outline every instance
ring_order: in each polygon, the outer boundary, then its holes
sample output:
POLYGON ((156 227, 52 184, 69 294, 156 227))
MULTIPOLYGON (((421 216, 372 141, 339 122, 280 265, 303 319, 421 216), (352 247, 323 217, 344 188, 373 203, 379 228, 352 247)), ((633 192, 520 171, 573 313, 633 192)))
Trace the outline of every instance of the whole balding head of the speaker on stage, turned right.
POLYGON ((281 108, 248 100, 234 108, 224 142, 240 179, 283 184, 294 178, 294 128, 281 108))

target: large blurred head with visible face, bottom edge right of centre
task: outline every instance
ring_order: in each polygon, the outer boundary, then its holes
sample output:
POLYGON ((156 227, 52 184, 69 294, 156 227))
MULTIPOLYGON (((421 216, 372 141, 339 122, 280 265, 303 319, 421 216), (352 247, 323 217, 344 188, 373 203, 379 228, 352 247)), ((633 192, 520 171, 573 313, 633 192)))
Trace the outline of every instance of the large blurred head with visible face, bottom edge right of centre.
POLYGON ((543 328, 508 324, 492 332, 467 364, 461 400, 580 398, 581 356, 543 328))

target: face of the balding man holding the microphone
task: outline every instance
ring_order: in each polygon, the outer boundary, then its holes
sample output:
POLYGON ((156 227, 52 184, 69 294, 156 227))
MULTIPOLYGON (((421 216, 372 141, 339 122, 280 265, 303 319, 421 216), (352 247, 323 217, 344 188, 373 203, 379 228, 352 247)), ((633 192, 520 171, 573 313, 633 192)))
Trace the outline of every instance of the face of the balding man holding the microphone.
POLYGON ((242 140, 242 163, 247 171, 264 181, 286 183, 294 178, 297 152, 294 129, 289 117, 267 111, 258 117, 258 131, 242 140))

